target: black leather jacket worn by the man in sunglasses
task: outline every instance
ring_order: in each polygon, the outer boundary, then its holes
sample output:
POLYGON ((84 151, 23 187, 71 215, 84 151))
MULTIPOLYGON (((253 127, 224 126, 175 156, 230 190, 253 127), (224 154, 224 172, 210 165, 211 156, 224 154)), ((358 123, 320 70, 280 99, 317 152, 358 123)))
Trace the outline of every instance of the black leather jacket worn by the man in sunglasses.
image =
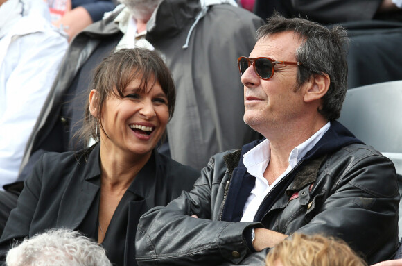
POLYGON ((295 231, 333 235, 348 242, 369 264, 394 255, 399 243, 394 165, 338 122, 331 122, 329 131, 277 184, 289 185, 277 193, 275 185, 265 197, 261 206, 273 196, 275 200, 263 210, 262 219, 222 221, 234 169, 242 164, 241 153, 252 147, 213 156, 191 192, 141 217, 139 265, 263 265, 268 250, 251 253, 247 248, 244 232, 250 226, 286 235, 295 231), (189 217, 193 214, 200 219, 189 217))

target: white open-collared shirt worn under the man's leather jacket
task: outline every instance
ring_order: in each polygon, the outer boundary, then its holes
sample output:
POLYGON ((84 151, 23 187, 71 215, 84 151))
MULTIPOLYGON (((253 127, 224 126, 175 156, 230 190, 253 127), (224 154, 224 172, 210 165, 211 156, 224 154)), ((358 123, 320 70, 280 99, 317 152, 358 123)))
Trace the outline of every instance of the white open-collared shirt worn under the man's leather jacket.
POLYGON ((315 144, 322 138, 324 133, 328 131, 330 122, 326 123, 325 126, 320 128, 314 135, 312 135, 308 140, 299 144, 299 146, 292 149, 289 156, 289 166, 277 179, 270 185, 268 181, 264 178, 263 174, 265 169, 270 163, 270 142, 269 140, 264 140, 256 147, 245 153, 243 156, 243 164, 247 168, 247 172, 252 176, 255 176, 256 182, 254 188, 250 192, 250 196, 247 198, 245 206, 243 208, 243 217, 241 217, 240 222, 253 222, 254 216, 261 205, 265 196, 270 192, 274 186, 281 181, 283 177, 286 176, 301 160, 306 153, 311 150, 315 144))

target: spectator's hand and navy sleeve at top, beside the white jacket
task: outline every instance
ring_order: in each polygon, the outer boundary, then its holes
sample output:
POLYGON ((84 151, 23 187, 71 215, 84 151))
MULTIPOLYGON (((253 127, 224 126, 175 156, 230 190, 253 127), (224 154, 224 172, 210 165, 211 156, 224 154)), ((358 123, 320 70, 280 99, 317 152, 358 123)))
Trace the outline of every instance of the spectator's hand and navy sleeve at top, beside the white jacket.
POLYGON ((53 25, 69 35, 69 41, 84 28, 98 22, 113 10, 113 0, 45 0, 49 5, 53 25))

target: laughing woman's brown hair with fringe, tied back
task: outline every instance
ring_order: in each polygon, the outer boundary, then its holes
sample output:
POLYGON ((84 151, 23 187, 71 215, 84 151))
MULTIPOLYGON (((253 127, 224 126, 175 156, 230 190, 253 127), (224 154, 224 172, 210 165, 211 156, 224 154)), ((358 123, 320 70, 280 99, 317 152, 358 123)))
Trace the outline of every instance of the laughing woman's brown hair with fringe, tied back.
MULTIPOLYGON (((124 97, 125 88, 135 79, 141 78, 139 92, 146 92, 148 85, 159 82, 162 90, 168 99, 169 119, 175 110, 176 91, 173 77, 164 60, 157 51, 150 51, 143 48, 121 49, 103 61, 94 70, 94 78, 87 92, 87 97, 91 90, 98 91, 98 108, 95 116, 89 112, 89 100, 85 107, 85 117, 80 131, 76 134, 80 142, 87 146, 89 140, 99 140, 102 130, 105 133, 100 114, 107 97, 124 97), (98 123, 100 130, 98 130, 98 123)), ((107 135, 105 133, 105 135, 107 135)))

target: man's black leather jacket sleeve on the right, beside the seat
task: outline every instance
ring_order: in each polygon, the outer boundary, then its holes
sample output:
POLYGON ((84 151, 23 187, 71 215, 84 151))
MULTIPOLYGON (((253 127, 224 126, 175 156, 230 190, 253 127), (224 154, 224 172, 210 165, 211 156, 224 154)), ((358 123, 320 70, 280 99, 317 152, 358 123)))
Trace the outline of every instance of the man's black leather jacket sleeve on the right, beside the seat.
POLYGON ((394 165, 385 156, 365 151, 346 160, 331 158, 326 165, 337 161, 335 167, 326 167, 335 180, 332 188, 323 191, 329 196, 322 203, 320 195, 311 200, 306 213, 311 220, 297 232, 342 238, 365 254, 369 265, 392 256, 399 242, 399 189, 394 165))

